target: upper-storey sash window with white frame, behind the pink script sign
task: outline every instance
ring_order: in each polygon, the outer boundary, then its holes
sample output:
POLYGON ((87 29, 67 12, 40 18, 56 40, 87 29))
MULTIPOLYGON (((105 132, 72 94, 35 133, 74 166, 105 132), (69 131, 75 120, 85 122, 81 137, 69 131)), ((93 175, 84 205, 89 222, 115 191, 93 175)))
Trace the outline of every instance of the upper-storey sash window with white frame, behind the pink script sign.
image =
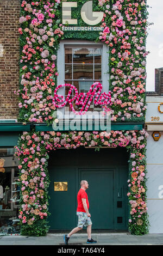
MULTIPOLYGON (((103 44, 89 41, 62 40, 58 51, 58 85, 63 83, 72 84, 78 89, 78 93, 87 93, 91 85, 99 82, 105 93, 109 92, 108 48, 103 44)), ((61 95, 66 97, 70 88, 60 89, 61 95)), ((74 92, 71 94, 73 97, 74 92)), ((73 102, 74 109, 79 111, 82 106, 73 102)), ((60 109, 61 110, 61 109, 60 109)), ((91 102, 89 111, 102 111, 101 106, 91 102)), ((62 109, 62 114, 71 112, 69 103, 62 109)))

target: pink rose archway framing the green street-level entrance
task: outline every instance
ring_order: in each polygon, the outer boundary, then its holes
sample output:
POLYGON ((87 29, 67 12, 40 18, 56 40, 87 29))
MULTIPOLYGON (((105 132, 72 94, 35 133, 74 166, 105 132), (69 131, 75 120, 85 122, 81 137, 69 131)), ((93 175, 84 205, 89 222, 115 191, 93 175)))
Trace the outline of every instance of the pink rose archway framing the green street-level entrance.
POLYGON ((131 234, 148 233, 146 204, 146 138, 142 131, 23 132, 15 155, 20 160, 20 223, 22 235, 46 235, 48 231, 48 153, 64 147, 126 147, 130 151, 130 179, 127 182, 131 234))

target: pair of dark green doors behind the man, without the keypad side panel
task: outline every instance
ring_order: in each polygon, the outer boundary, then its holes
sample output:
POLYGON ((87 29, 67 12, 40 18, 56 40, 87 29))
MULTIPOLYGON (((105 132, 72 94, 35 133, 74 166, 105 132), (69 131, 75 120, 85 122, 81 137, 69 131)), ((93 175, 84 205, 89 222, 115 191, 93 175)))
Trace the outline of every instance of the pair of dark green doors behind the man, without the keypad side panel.
POLYGON ((52 230, 76 227, 77 193, 80 180, 87 180, 93 229, 114 229, 114 170, 105 168, 57 167, 50 171, 49 223, 52 230), (67 182, 66 191, 55 191, 54 182, 67 182))

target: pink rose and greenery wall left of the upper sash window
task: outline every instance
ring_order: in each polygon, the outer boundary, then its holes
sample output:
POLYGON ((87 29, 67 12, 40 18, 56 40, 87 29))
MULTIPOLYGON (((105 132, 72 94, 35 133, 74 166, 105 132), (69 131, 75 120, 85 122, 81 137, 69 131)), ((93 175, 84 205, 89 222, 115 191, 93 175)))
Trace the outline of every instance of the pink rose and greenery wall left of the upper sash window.
POLYGON ((57 8, 60 1, 22 1, 20 25, 19 120, 49 123, 57 84, 57 48, 64 34, 57 8))

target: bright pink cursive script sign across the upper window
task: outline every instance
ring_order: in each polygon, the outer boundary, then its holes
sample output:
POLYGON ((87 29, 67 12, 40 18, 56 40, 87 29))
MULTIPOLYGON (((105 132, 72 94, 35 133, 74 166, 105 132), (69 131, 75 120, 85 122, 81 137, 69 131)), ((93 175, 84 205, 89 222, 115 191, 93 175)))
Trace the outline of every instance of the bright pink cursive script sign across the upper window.
POLYGON ((73 86, 72 84, 69 84, 69 83, 61 84, 60 86, 58 86, 54 90, 53 104, 57 108, 62 108, 68 102, 70 104, 70 107, 71 107, 72 111, 75 114, 82 115, 82 114, 85 114, 88 111, 88 109, 91 105, 91 102, 93 100, 93 97, 95 97, 95 100, 94 100, 95 105, 103 106, 103 105, 109 105, 110 104, 110 102, 111 102, 111 93, 110 92, 108 94, 107 93, 101 93, 102 88, 103 88, 102 84, 99 83, 99 82, 96 82, 96 83, 92 84, 92 86, 89 89, 89 92, 78 94, 77 88, 75 86, 73 86), (70 90, 68 92, 66 100, 65 100, 64 96, 57 94, 57 91, 61 87, 70 87, 70 90), (72 90, 74 90, 75 95, 72 99, 70 99, 70 96, 72 94, 72 90), (80 111, 76 111, 74 109, 73 104, 72 104, 73 101, 75 101, 75 104, 77 106, 79 106, 79 105, 82 106, 82 109, 80 109, 80 111))

